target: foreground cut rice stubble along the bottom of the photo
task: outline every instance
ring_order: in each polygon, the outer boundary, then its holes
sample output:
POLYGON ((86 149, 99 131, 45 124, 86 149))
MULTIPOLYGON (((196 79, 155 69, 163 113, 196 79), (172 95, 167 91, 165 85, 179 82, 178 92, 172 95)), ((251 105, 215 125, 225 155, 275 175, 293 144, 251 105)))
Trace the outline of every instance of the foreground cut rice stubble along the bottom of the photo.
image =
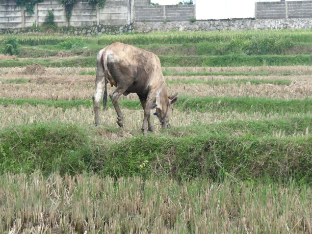
POLYGON ((311 194, 294 183, 4 174, 0 231, 311 233, 311 194))

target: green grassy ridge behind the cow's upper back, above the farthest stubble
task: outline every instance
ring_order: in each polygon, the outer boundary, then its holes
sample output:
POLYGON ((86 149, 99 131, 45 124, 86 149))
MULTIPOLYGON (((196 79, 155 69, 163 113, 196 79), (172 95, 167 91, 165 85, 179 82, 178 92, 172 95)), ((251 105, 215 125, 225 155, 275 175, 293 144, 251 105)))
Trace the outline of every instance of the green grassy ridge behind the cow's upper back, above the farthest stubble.
MULTIPOLYGON (((295 66, 312 65, 311 55, 298 56, 159 56, 163 67, 209 66, 295 66)), ((0 67, 25 67, 37 63, 45 67, 95 67, 95 57, 59 58, 59 59, 6 59, 0 67)))

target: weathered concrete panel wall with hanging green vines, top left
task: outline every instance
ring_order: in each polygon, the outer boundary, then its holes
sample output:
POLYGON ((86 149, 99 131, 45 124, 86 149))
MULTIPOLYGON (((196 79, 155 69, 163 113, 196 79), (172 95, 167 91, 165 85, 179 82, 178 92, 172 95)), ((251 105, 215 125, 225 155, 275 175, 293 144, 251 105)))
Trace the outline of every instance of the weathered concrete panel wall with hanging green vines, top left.
POLYGON ((44 23, 48 10, 54 10, 55 23, 58 27, 94 26, 99 24, 125 25, 134 20, 134 6, 149 5, 150 0, 106 0, 105 8, 99 9, 88 4, 87 0, 79 0, 73 8, 70 22, 65 16, 65 7, 58 0, 44 0, 35 5, 35 14, 16 6, 15 0, 0 1, 0 29, 30 27, 33 23, 40 26, 44 23))

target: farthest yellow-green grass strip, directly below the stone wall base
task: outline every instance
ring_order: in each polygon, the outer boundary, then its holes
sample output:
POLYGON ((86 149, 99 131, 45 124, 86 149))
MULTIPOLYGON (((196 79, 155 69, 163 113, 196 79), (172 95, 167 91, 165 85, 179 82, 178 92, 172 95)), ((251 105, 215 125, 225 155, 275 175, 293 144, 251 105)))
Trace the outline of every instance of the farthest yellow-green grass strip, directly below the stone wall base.
MULTIPOLYGON (((0 36, 3 40, 5 36, 0 36)), ((73 37, 60 35, 17 35, 22 45, 56 45, 60 42, 78 38, 86 43, 108 45, 115 41, 127 44, 185 44, 200 42, 226 42, 232 39, 251 40, 255 38, 289 38, 292 42, 312 42, 311 30, 250 30, 250 31, 221 31, 221 32, 153 32, 149 34, 102 35, 99 37, 73 37)))

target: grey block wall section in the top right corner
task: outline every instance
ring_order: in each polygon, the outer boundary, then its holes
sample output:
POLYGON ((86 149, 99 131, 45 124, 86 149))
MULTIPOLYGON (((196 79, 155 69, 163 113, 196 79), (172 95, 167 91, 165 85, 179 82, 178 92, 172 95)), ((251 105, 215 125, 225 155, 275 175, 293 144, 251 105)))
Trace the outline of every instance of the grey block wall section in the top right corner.
POLYGON ((312 18, 312 1, 256 3, 255 18, 256 19, 312 18))

